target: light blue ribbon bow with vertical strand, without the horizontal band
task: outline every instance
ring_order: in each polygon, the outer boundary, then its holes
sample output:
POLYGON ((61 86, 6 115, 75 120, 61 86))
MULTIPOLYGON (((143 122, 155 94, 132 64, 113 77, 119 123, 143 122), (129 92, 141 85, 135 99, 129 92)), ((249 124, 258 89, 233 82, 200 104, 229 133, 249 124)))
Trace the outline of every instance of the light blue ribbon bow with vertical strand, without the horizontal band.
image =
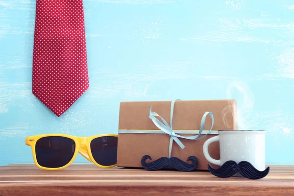
POLYGON ((173 115, 173 108, 174 108, 174 103, 175 100, 172 101, 172 105, 171 105, 171 125, 169 125, 161 116, 159 116, 157 113, 152 112, 152 106, 150 107, 150 111, 149 111, 149 118, 152 120, 152 122, 163 132, 165 132, 166 134, 169 134, 171 139, 170 139, 170 147, 169 147, 169 158, 171 158, 171 153, 172 153, 172 142, 173 140, 182 148, 184 149, 185 146, 184 144, 178 139, 178 138, 184 138, 187 140, 201 140, 202 138, 206 137, 207 134, 210 133, 212 127, 213 127, 213 123, 214 123, 214 119, 213 119, 213 114, 211 112, 205 112, 204 115, 202 116, 202 120, 201 120, 201 124, 200 124, 200 130, 198 135, 195 136, 181 136, 178 134, 175 134, 172 130, 172 115, 173 115), (210 115, 211 119, 212 119, 212 123, 211 123, 211 127, 210 130, 202 137, 199 137, 199 135, 202 133, 204 125, 205 125, 205 119, 207 115, 210 115), (157 118, 155 117, 159 117, 161 121, 159 121, 157 118))

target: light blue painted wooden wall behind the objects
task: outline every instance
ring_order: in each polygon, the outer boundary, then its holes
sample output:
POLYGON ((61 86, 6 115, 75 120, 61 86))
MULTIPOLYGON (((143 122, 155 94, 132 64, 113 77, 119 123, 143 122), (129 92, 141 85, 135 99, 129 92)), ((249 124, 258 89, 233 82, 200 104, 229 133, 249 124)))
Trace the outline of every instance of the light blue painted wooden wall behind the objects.
POLYGON ((33 163, 26 136, 117 133, 120 101, 176 98, 235 98, 267 163, 294 164, 293 0, 84 0, 90 89, 60 118, 31 93, 35 4, 0 0, 0 165, 33 163))

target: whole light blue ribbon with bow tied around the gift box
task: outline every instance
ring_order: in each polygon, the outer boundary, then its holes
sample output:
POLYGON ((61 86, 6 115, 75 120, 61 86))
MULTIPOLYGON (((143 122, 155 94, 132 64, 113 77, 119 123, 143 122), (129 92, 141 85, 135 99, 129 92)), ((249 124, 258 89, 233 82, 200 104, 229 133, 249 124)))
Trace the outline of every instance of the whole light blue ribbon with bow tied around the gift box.
POLYGON ((167 123, 166 120, 164 120, 164 118, 162 118, 160 115, 158 115, 155 112, 152 112, 152 106, 150 107, 149 118, 161 131, 160 130, 125 130, 125 129, 122 130, 121 129, 121 130, 119 130, 119 133, 168 134, 171 138, 170 139, 170 147, 169 147, 169 158, 171 158, 173 141, 175 141, 182 149, 185 148, 184 144, 178 138, 184 138, 187 140, 201 140, 204 137, 206 137, 207 134, 218 134, 217 131, 211 130, 213 127, 213 124, 214 124, 214 118, 213 118, 213 114, 211 112, 205 112, 203 114, 199 130, 176 130, 176 131, 172 130, 172 116, 173 116, 174 103, 175 103, 175 100, 172 101, 172 105, 171 105, 171 125, 169 125, 169 123, 167 123), (205 120, 206 120, 207 115, 210 115, 210 117, 212 119, 212 123, 211 123, 211 127, 210 127, 209 131, 204 131, 203 129, 204 129, 205 120), (162 122, 160 120, 158 120, 156 117, 159 117, 162 120, 162 122), (178 135, 178 134, 195 134, 195 133, 197 133, 197 135, 195 135, 195 136, 178 135), (199 137, 200 134, 205 134, 205 135, 199 137))

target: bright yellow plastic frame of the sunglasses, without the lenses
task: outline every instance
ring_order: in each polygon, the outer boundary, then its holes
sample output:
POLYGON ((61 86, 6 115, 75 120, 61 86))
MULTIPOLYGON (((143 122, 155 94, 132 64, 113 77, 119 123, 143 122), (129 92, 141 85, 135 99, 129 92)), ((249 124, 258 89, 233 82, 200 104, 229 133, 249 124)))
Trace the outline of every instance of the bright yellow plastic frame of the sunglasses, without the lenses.
POLYGON ((98 164, 95 161, 95 159, 93 158, 93 155, 91 152, 90 144, 91 144, 92 140, 94 140, 96 138, 100 138, 100 137, 105 137, 105 136, 112 136, 112 137, 118 138, 118 135, 116 135, 116 134, 100 134, 100 135, 94 135, 94 136, 90 136, 90 137, 76 137, 76 136, 66 135, 66 134, 42 134, 42 135, 29 136, 29 137, 25 138, 25 145, 30 146, 32 148, 32 153, 33 153, 35 165, 42 170, 62 170, 64 168, 67 168, 69 165, 71 165, 73 163, 77 153, 80 153, 88 161, 94 163, 95 165, 97 165, 100 168, 113 168, 113 167, 116 167, 117 165, 115 164, 115 165, 111 165, 111 166, 102 166, 102 165, 98 164), (50 136, 65 137, 65 138, 72 139, 74 141, 75 149, 74 149, 73 158, 65 166, 62 166, 59 168, 46 168, 46 167, 39 165, 39 163, 37 161, 37 157, 36 157, 36 143, 39 139, 44 138, 44 137, 50 137, 50 136))

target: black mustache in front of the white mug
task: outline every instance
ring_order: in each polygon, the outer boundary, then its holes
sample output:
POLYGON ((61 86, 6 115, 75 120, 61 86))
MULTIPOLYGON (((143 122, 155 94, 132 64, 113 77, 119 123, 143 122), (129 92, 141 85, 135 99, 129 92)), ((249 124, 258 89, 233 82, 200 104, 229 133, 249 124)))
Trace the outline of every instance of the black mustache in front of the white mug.
POLYGON ((259 171, 247 161, 241 161, 239 164, 235 161, 227 161, 219 169, 213 169, 208 164, 208 170, 215 176, 222 178, 230 177, 239 172, 245 178, 260 179, 268 175, 270 167, 268 167, 265 171, 259 171))

